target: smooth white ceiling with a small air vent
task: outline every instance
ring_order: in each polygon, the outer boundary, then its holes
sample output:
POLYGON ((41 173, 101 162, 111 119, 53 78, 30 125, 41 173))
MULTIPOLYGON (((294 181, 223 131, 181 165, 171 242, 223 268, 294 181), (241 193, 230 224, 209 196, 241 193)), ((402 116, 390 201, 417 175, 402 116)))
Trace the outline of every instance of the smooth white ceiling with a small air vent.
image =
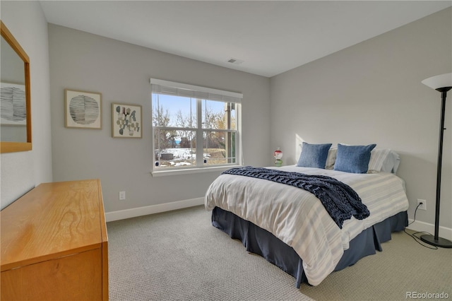
POLYGON ((40 1, 49 23, 275 76, 452 1, 40 1), (229 59, 243 61, 231 64, 229 59))

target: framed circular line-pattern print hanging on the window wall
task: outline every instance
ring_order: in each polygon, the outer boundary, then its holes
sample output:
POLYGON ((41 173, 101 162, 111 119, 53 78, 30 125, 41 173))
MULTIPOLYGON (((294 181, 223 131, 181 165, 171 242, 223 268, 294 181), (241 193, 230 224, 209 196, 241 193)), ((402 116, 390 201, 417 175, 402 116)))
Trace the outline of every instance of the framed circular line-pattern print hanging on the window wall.
POLYGON ((102 129, 100 93, 66 89, 64 94, 64 126, 78 129, 102 129))

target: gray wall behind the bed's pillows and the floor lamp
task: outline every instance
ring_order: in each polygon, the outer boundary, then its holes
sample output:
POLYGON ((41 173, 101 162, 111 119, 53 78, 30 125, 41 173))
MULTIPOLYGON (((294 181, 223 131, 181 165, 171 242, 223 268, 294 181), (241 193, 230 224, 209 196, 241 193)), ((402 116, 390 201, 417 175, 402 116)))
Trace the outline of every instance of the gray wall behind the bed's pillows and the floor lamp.
MULTIPOLYGON (((434 223, 441 94, 424 78, 452 71, 448 8, 270 80, 270 150, 295 164, 298 141, 377 143, 401 157, 413 218, 434 223)), ((446 104, 441 225, 452 228, 452 93, 446 104)), ((299 143, 299 142, 298 142, 299 143)), ((269 150, 269 151, 270 151, 269 150)), ((298 152, 297 152, 298 151, 298 152)))

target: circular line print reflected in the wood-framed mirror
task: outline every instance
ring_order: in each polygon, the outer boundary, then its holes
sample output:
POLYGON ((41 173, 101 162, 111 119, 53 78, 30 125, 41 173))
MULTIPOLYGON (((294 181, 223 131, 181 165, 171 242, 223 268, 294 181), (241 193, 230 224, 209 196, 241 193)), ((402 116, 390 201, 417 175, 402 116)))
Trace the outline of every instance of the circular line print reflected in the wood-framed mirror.
POLYGON ((25 85, 0 83, 1 119, 0 124, 27 125, 25 85))

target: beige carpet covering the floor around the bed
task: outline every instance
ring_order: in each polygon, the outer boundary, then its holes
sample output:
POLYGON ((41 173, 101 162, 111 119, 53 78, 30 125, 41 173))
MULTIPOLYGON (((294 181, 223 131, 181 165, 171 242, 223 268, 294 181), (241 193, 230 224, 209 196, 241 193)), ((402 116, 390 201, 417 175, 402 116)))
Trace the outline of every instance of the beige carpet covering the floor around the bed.
POLYGON ((107 230, 110 300, 452 298, 452 249, 424 248, 404 232, 383 252, 297 290, 295 278, 214 228, 203 206, 110 222, 107 230))

